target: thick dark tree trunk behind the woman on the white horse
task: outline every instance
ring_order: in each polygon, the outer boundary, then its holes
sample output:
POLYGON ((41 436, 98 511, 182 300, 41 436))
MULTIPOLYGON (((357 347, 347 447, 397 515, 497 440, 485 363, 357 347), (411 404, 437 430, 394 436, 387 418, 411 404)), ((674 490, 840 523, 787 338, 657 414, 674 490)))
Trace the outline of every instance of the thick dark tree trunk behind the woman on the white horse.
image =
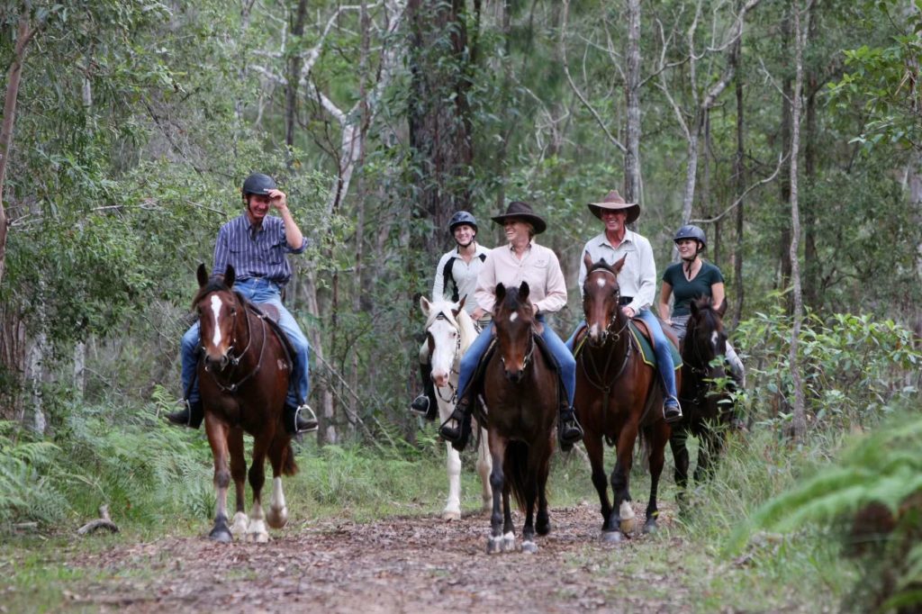
POLYGON ((431 260, 443 251, 445 227, 457 209, 470 208, 473 161, 467 104, 467 27, 464 0, 409 0, 409 145, 418 169, 418 218, 431 221, 423 245, 431 260), (449 32, 450 45, 443 44, 449 32))

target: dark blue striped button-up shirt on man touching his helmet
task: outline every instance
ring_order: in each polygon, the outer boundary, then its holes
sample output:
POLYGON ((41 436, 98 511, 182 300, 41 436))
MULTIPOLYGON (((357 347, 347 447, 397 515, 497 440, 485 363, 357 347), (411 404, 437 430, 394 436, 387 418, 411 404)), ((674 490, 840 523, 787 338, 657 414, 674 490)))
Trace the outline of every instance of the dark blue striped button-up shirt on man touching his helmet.
POLYGON ((266 277, 282 287, 291 278, 291 266, 285 255, 301 254, 306 247, 307 239, 302 239, 297 249, 290 247, 282 218, 266 216, 257 227, 243 213, 221 226, 212 270, 223 275, 227 266, 232 265, 238 279, 266 277))

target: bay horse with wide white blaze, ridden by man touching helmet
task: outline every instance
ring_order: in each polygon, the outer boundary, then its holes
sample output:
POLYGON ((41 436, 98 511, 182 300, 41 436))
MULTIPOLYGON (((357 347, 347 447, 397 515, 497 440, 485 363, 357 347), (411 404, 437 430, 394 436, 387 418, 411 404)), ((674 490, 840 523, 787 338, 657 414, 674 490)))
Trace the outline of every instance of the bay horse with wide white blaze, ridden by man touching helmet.
POLYGON ((205 431, 215 461, 215 525, 208 537, 231 542, 233 536, 259 543, 269 539, 266 523, 281 528, 288 522, 282 491, 283 475, 298 471, 291 435, 282 423, 291 374, 288 341, 266 317, 233 291, 234 269, 228 266, 223 281, 208 278, 205 265, 197 271, 198 292, 193 307, 198 313, 202 358, 198 382, 205 409, 205 431), (253 507, 244 512, 243 479, 247 476, 243 433, 253 435, 250 488, 253 507), (263 513, 261 493, 266 481, 266 456, 272 464, 272 499, 263 513), (229 466, 230 461, 230 466, 229 466), (236 513, 228 527, 228 487, 233 478, 236 513))

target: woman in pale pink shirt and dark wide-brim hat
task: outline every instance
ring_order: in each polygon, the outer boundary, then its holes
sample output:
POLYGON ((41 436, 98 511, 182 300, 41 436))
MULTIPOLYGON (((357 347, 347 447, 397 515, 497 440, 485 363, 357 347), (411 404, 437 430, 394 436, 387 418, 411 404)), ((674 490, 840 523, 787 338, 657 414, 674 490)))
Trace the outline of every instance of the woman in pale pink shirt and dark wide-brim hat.
MULTIPOLYGON (((474 297, 485 312, 493 313, 496 302, 496 285, 518 288, 523 281, 528 284, 528 300, 532 303, 535 318, 544 323, 545 313, 560 311, 567 304, 567 285, 563 279, 561 263, 557 254, 534 241, 535 235, 548 228, 547 222, 538 216, 527 203, 514 201, 506 207, 505 213, 491 218, 502 224, 508 244, 496 247, 487 255, 487 260, 477 277, 474 297)), ((561 384, 566 391, 561 399, 560 417, 557 421, 557 436, 561 449, 573 447, 583 439, 583 429, 576 422, 573 413, 573 394, 576 390, 576 360, 573 353, 563 344, 561 337, 549 325, 541 326, 541 338, 557 363, 561 384)), ((445 420, 440 432, 446 441, 458 450, 463 450, 470 434, 470 416, 473 411, 474 391, 472 375, 477 370, 493 337, 493 324, 486 325, 479 337, 467 348, 461 358, 458 375, 458 402, 451 418, 445 420)))

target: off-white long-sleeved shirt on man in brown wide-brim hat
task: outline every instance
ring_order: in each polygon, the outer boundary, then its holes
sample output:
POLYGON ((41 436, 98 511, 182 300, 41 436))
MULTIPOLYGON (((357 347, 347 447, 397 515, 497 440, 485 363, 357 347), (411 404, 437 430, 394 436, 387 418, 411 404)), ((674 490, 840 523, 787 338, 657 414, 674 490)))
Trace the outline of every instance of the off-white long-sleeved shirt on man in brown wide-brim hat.
MULTIPOLYGON (((621 296, 632 297, 632 301, 627 306, 631 307, 634 313, 650 308, 656 294, 656 261, 653 259, 653 247, 645 237, 632 230, 625 230, 624 239, 617 248, 614 248, 606 238, 605 232, 602 232, 585 244, 583 254, 589 254, 589 258, 594 263, 605 258, 605 262, 609 265, 615 264, 621 260, 621 256, 627 255, 621 273, 618 274, 621 296)), ((580 254, 579 264, 579 291, 581 293, 586 276, 583 254, 580 254)))

